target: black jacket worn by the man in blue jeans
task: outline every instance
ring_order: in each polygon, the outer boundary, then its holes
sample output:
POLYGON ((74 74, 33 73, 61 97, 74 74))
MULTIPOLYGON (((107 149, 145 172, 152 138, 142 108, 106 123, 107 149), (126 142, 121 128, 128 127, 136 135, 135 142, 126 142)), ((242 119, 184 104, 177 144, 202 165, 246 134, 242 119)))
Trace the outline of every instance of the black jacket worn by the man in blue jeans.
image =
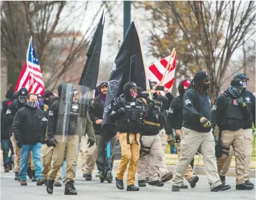
POLYGON ((47 126, 47 115, 38 108, 32 108, 25 104, 19 109, 12 123, 12 131, 17 141, 23 144, 43 143, 45 140, 45 127, 47 126))

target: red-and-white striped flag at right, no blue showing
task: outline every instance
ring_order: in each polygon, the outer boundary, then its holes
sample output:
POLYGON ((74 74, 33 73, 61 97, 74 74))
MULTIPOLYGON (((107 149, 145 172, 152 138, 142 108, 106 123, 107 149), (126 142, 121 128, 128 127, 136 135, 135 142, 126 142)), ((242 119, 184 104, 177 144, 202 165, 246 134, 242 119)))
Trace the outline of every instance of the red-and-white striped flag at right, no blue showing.
MULTIPOLYGON (((165 69, 167 67, 170 56, 163 58, 162 60, 156 61, 154 64, 148 67, 148 78, 154 80, 157 83, 161 82, 163 74, 165 74, 165 69)), ((163 80, 163 85, 172 91, 172 85, 174 82, 174 74, 176 67, 176 54, 170 60, 169 71, 167 71, 165 78, 163 80)))

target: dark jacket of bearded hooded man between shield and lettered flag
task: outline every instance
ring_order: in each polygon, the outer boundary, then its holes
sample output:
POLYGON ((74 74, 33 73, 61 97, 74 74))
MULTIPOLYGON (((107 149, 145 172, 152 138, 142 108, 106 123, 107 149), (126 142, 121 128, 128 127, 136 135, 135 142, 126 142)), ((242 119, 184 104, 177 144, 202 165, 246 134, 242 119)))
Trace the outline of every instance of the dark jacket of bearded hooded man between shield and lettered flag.
POLYGON ((104 112, 104 105, 100 103, 100 96, 98 95, 95 98, 93 98, 93 100, 91 100, 90 106, 89 106, 89 117, 93 122, 93 128, 95 130, 96 135, 99 135, 102 129, 101 129, 101 124, 96 124, 95 122, 99 119, 102 120, 103 112, 104 112))

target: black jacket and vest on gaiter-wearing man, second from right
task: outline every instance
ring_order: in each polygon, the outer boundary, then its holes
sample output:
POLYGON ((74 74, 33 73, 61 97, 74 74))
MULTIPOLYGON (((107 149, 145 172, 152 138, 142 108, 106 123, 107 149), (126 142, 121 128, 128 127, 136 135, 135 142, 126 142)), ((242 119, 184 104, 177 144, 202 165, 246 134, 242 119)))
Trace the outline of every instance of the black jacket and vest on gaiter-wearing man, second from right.
MULTIPOLYGON (((224 94, 220 94, 215 100, 215 105, 211 111, 211 123, 213 127, 218 125, 220 131, 224 130, 237 130, 242 128, 244 122, 250 121, 251 113, 247 107, 241 107, 232 98, 229 91, 224 91, 224 94), (229 108, 229 105, 231 107, 229 108), (233 113, 233 114, 232 114, 233 113), (230 117, 233 115, 233 117, 230 117)), ((250 125, 251 128, 252 125, 250 125)))

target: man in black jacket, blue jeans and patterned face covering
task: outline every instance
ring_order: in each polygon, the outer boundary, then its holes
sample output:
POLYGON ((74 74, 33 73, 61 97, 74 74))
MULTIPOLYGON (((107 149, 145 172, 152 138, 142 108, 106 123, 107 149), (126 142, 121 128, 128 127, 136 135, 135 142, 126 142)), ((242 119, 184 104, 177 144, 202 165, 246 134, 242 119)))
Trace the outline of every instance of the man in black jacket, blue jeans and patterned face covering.
POLYGON ((19 177, 21 186, 27 185, 27 168, 30 151, 32 151, 36 170, 36 185, 42 185, 44 179, 41 175, 41 144, 45 139, 43 131, 47 126, 47 115, 38 109, 38 97, 34 93, 27 96, 27 103, 19 109, 12 123, 12 131, 17 140, 18 148, 21 148, 21 161, 19 177))

